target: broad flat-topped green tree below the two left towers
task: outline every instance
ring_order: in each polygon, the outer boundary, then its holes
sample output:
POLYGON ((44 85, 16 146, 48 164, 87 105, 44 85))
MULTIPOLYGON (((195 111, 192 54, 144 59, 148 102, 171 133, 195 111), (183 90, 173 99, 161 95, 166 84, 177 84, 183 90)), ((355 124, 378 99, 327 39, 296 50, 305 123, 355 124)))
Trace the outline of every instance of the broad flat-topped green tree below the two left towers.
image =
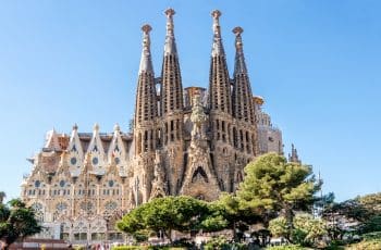
POLYGON ((164 197, 134 209, 116 227, 127 234, 143 229, 162 232, 172 241, 172 230, 197 230, 201 228, 200 223, 208 213, 208 205, 204 201, 185 196, 164 197))

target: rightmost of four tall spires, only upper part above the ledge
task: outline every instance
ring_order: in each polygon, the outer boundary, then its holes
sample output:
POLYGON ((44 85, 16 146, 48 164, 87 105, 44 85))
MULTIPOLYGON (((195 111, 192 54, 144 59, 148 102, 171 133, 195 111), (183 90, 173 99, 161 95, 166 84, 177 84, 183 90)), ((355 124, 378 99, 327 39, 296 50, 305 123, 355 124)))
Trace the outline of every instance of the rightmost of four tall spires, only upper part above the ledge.
POLYGON ((233 116, 238 121, 255 124, 255 108, 253 103, 253 93, 250 80, 247 74, 243 42, 241 34, 244 30, 235 27, 235 65, 234 65, 234 85, 233 85, 233 116))

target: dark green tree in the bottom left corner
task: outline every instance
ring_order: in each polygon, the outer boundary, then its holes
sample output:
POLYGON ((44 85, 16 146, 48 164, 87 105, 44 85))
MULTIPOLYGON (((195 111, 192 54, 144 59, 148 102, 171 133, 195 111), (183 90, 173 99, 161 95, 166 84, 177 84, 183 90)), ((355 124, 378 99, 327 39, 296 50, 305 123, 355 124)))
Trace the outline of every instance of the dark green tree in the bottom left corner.
POLYGON ((41 230, 35 212, 19 199, 0 204, 0 240, 8 249, 15 240, 33 236, 41 230))

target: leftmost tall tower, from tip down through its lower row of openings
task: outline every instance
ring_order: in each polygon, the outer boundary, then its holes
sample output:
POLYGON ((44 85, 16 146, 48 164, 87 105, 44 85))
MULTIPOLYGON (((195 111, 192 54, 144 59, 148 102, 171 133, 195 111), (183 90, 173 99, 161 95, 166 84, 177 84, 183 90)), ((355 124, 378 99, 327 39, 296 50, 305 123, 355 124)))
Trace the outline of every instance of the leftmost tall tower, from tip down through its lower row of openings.
POLYGON ((144 152, 155 152, 155 118, 158 116, 155 75, 150 53, 149 32, 151 27, 146 24, 142 27, 142 30, 143 51, 136 90, 134 120, 135 155, 139 155, 144 152))

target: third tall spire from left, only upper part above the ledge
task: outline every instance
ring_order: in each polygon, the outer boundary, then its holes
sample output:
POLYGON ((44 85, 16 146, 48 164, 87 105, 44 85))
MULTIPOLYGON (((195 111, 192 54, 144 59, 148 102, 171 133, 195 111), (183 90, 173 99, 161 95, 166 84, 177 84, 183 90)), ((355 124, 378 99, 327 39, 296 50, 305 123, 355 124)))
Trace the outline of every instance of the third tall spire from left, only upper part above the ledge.
POLYGON ((216 10, 211 15, 213 17, 213 45, 209 75, 209 104, 211 110, 231 114, 231 85, 219 22, 221 12, 216 10))

